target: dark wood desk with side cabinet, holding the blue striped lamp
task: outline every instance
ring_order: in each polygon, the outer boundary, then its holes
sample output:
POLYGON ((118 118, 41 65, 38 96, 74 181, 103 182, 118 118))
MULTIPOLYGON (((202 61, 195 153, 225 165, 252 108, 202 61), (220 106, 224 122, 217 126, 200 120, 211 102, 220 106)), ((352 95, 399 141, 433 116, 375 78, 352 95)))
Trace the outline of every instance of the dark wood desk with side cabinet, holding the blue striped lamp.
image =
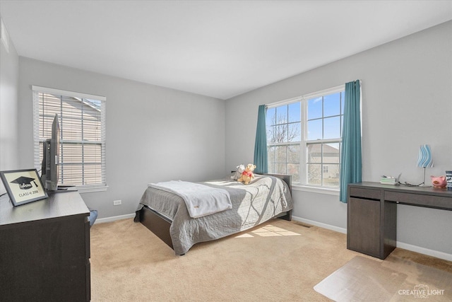
POLYGON ((452 211, 452 191, 379 182, 348 185, 347 248, 388 257, 396 248, 397 204, 452 211))

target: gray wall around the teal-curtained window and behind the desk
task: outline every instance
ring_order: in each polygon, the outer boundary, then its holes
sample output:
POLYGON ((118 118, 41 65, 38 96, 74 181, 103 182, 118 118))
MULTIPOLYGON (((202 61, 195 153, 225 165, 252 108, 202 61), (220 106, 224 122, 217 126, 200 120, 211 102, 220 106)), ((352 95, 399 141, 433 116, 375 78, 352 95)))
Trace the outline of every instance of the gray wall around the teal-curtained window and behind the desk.
MULTIPOLYGON (((355 79, 362 80, 363 180, 403 173, 403 181, 422 182, 422 168, 416 166, 420 144, 432 146, 435 165, 427 168, 427 177, 452 168, 452 22, 448 22, 227 100, 227 169, 253 161, 258 105, 355 79)), ((346 204, 338 195, 300 189, 293 196, 297 219, 345 230, 346 204)), ((450 211, 400 206, 397 227, 400 246, 415 245, 452 257, 450 211)))

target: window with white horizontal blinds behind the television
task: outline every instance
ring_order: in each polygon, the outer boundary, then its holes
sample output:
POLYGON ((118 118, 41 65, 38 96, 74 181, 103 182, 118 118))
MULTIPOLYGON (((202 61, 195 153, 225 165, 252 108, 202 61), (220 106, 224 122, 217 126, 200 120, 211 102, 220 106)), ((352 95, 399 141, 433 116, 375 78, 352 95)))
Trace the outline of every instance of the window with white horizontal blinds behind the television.
POLYGON ((59 185, 82 192, 105 190, 105 100, 98 95, 32 86, 35 167, 40 170, 42 144, 52 137, 59 117, 59 185))

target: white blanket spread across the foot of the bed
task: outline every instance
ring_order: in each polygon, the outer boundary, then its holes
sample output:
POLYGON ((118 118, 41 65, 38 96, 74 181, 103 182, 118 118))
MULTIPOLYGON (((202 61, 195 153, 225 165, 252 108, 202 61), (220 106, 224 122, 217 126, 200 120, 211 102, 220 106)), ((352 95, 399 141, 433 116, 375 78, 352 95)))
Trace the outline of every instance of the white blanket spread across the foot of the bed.
POLYGON ((199 218, 232 209, 230 194, 223 189, 182 180, 150 183, 148 187, 155 187, 182 197, 191 218, 199 218))

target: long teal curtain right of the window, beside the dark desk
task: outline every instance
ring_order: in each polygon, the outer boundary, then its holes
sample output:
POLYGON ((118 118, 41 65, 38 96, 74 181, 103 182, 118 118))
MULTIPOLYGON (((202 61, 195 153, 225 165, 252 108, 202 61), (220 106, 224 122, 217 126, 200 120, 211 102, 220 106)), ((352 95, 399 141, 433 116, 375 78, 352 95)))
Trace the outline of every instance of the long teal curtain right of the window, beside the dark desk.
POLYGON ((362 181, 361 87, 359 81, 345 83, 344 124, 340 153, 340 196, 347 202, 347 185, 362 181))

